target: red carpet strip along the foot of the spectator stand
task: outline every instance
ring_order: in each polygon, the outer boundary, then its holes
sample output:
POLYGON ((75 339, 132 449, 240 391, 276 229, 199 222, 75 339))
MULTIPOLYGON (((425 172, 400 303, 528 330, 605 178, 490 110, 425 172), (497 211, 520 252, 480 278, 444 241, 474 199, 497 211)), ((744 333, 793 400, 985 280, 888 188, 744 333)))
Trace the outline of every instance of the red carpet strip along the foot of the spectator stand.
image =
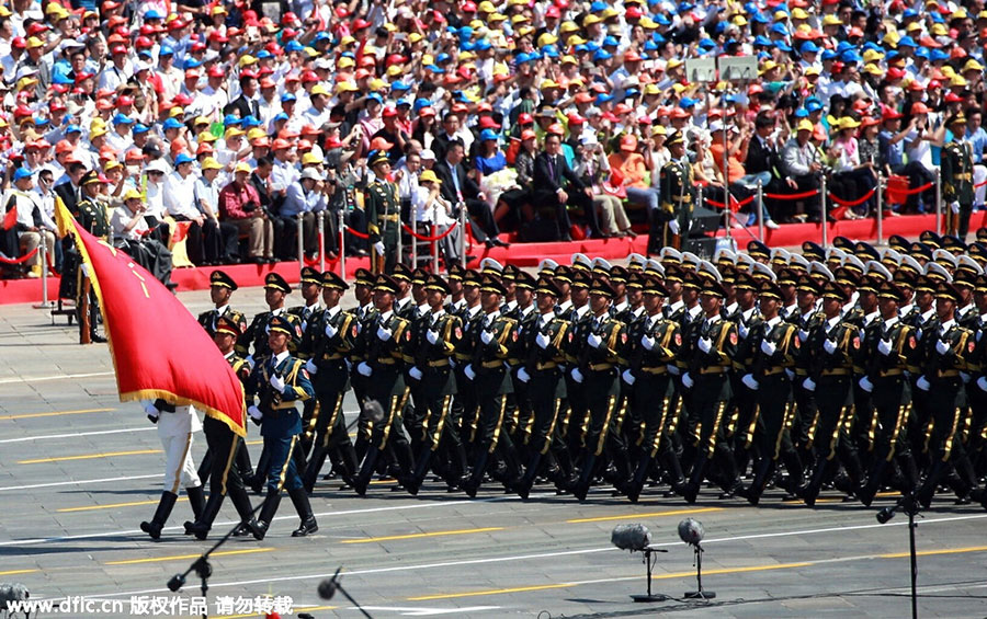
MULTIPOLYGON (((971 232, 987 225, 987 211, 974 213, 971 217, 971 232)), ((903 237, 918 237, 924 230, 935 227, 934 215, 906 215, 903 217, 887 217, 884 219, 884 240, 893 234, 903 237)), ((819 223, 789 223, 778 230, 765 230, 764 241, 770 247, 801 245, 805 241, 822 242, 822 226, 819 223)), ((724 236, 723 230, 719 236, 724 236)), ((757 227, 735 229, 730 234, 737 240, 739 248, 747 247, 748 241, 756 239, 757 227)), ((828 226, 829 240, 843 236, 853 240, 876 241, 877 221, 874 219, 861 219, 856 221, 838 221, 828 226)), ((581 252, 590 257, 604 257, 606 260, 621 260, 633 252, 644 253, 647 245, 647 236, 640 234, 631 241, 627 239, 593 239, 585 241, 570 241, 566 243, 514 243, 510 248, 486 249, 483 245, 474 247, 470 255, 476 260, 469 266, 477 266, 484 257, 492 257, 501 264, 514 264, 517 266, 537 266, 549 257, 559 264, 568 264, 574 253, 581 252)), ((348 259, 347 278, 352 279, 356 268, 367 267, 367 259, 348 259)), ((209 273, 216 267, 177 268, 171 278, 179 285, 179 290, 203 290, 209 287, 209 273)), ((271 271, 276 271, 290 283, 298 282, 298 263, 281 262, 273 266, 258 266, 254 264, 240 264, 222 267, 237 280, 242 287, 261 286, 264 276, 271 271)), ((336 262, 326 263, 326 268, 337 270, 336 262)), ((58 278, 48 278, 48 298, 55 299, 58 294, 58 278)), ((0 305, 36 303, 41 302, 42 287, 39 279, 0 279, 0 305)))

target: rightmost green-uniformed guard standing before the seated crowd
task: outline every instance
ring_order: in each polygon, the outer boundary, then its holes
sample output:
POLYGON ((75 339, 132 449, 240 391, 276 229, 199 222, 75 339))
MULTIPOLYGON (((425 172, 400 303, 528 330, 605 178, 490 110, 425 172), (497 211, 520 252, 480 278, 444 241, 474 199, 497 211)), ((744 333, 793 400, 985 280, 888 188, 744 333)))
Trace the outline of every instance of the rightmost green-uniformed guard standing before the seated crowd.
POLYGON ((946 123, 953 139, 942 148, 942 202, 946 209, 946 233, 966 241, 969 214, 973 213, 973 146, 964 139, 966 117, 960 113, 946 123))

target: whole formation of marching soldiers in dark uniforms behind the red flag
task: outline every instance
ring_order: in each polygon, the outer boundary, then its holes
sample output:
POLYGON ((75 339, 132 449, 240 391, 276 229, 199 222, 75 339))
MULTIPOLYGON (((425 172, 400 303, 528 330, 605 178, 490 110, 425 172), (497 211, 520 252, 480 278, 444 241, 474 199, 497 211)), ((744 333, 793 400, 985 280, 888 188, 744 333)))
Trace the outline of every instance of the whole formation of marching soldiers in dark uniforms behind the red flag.
POLYGON ((524 498, 551 482, 583 501, 606 483, 637 502, 663 483, 693 503, 710 482, 756 505, 775 483, 807 505, 824 488, 864 505, 890 488, 928 506, 948 488, 987 507, 987 230, 978 239, 838 238, 801 254, 753 241, 713 261, 667 248, 626 267, 575 254, 536 276, 491 260, 445 278, 397 264, 358 271, 352 310, 344 280, 305 268, 305 305, 285 309, 292 289, 269 274, 270 309, 249 325, 216 271, 200 322, 264 447, 254 473, 242 439, 206 420, 211 494, 186 534, 204 539, 229 493, 238 532, 261 539, 284 489, 293 535, 316 531, 308 494, 327 458, 361 496, 375 474, 417 494, 432 473, 470 497, 494 480, 524 498), (243 482, 266 486, 257 518, 243 482))

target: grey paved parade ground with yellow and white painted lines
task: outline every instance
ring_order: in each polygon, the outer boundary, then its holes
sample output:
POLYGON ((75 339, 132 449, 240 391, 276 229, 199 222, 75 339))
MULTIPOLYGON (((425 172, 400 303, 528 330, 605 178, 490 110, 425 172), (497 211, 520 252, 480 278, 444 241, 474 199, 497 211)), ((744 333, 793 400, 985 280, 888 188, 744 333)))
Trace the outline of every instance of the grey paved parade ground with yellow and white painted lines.
MULTIPOLYGON (((208 291, 180 297, 193 312, 209 307, 208 291)), ((234 306, 251 316, 262 300, 261 289, 241 289, 234 306)), ((208 545, 181 535, 191 518, 184 497, 160 541, 139 531, 160 495, 161 445, 140 406, 118 402, 106 345, 76 341, 78 331, 64 319, 52 326, 43 310, 0 308, 0 582, 23 583, 32 599, 86 595, 126 608, 42 617, 150 616, 147 605, 174 595, 188 604, 198 595, 194 575, 180 594, 166 583, 208 545)), ((352 393, 344 411, 355 420, 352 393)), ((259 435, 248 425, 256 462, 259 435)), ((201 458, 202 435, 192 449, 201 458)), ((317 594, 340 565, 345 589, 373 617, 910 614, 907 518, 899 514, 886 525, 874 518, 890 496, 873 508, 838 498, 808 508, 769 491, 760 507, 750 507, 718 501, 718 491, 707 489, 690 506, 651 489, 632 505, 594 489, 579 504, 549 486, 521 501, 490 483, 470 501, 438 483, 417 497, 392 485, 374 483, 360 498, 340 492, 339 482, 320 482, 311 500, 315 536, 292 538, 297 516, 284 508, 263 541, 232 539, 213 560, 209 616, 253 617, 258 596, 271 596, 268 605, 290 596, 294 612, 282 617, 356 617, 341 596, 327 601, 317 594), (705 527, 703 585, 716 592, 714 600, 682 599, 695 588, 691 548, 676 532, 685 517, 705 527), (631 600, 645 592, 645 566, 639 554, 610 545, 611 529, 628 523, 645 524, 654 543, 668 549, 658 554, 654 589, 673 599, 631 600)), ((227 502, 214 534, 234 516, 227 502)), ((985 532, 979 505, 937 497, 917 529, 920 616, 987 616, 985 532)), ((188 606, 181 609, 159 616, 191 616, 188 606)))

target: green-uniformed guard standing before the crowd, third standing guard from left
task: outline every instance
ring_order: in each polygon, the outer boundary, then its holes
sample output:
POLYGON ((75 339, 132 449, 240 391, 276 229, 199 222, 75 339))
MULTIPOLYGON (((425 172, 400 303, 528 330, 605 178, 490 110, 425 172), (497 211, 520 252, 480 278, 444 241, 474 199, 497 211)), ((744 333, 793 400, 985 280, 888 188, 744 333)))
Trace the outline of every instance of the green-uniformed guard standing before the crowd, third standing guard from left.
POLYGON ((682 247, 682 239, 689 236, 692 205, 695 204, 692 164, 685 156, 684 134, 677 131, 669 136, 665 146, 671 161, 661 169, 661 208, 651 214, 648 255, 658 253, 666 245, 682 247))

